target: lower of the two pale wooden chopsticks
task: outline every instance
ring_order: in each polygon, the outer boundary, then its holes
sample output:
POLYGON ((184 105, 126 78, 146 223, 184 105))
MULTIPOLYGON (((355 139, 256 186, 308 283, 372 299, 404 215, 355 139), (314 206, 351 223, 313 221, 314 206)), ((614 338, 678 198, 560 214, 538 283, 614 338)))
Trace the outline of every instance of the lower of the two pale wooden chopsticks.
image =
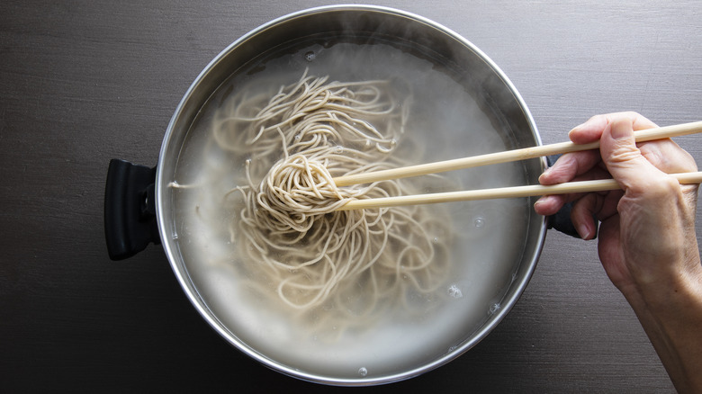
MULTIPOLYGON (((702 184, 702 172, 671 175, 677 178, 680 184, 702 184)), ((617 189, 620 189, 620 186, 614 179, 570 182, 548 186, 535 184, 527 186, 468 190, 462 192, 430 193, 397 197, 383 197, 377 199, 354 200, 348 201, 346 205, 340 207, 338 210, 361 210, 399 207, 402 205, 433 204, 438 202, 491 200, 565 193, 602 192, 617 189)))

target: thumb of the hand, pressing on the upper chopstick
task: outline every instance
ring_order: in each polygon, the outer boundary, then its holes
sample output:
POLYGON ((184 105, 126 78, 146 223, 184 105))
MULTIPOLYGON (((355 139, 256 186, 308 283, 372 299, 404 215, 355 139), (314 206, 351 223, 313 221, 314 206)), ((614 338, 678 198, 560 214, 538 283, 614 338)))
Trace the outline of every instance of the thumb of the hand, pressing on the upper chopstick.
POLYGON ((664 176, 636 147, 634 123, 630 119, 610 121, 602 132, 599 149, 609 174, 624 190, 645 188, 664 176))

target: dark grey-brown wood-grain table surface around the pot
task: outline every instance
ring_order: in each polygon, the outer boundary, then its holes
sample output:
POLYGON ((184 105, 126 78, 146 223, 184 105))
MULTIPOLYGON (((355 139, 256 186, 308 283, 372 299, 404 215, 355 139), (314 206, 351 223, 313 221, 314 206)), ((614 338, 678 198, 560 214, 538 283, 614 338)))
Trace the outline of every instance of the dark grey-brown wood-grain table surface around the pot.
MULTIPOLYGON (((211 58, 264 22, 323 4, 0 4, 0 391, 329 390, 227 345, 185 298, 160 246, 112 262, 103 239, 109 160, 156 165, 175 106, 211 58)), ((698 1, 379 5, 482 49, 517 86, 545 143, 601 112, 633 110, 660 125, 702 117, 698 1)), ((702 139, 677 140, 702 159, 702 139)), ((429 388, 673 391, 596 242, 553 231, 527 291, 490 336, 436 371, 365 390, 429 388)))

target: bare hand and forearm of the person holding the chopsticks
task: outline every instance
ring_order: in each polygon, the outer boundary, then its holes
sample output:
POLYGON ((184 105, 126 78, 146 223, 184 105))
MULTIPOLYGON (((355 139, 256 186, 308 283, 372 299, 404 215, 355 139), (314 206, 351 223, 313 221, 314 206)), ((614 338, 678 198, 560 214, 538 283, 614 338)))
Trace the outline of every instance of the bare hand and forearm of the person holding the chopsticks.
POLYGON ((541 184, 613 177, 621 191, 545 196, 536 213, 552 215, 574 201, 572 222, 583 239, 599 224, 599 259, 635 310, 680 392, 702 392, 702 265, 695 213, 698 185, 668 174, 697 171, 671 139, 636 144, 634 130, 656 127, 635 112, 598 115, 569 133, 599 140, 599 151, 563 155, 541 184))

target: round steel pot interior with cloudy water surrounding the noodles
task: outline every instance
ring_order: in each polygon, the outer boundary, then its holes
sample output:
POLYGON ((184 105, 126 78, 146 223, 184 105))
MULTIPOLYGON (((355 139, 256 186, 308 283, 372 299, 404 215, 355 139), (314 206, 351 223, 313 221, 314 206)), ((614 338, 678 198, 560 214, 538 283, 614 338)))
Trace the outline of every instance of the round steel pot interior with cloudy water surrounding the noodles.
MULTIPOLYGON (((390 81, 406 120, 391 155, 412 164, 540 143, 499 68, 433 22, 383 8, 329 7, 269 23, 212 61, 166 132, 157 175, 159 226, 184 291, 229 343, 305 380, 377 384, 446 363, 487 335, 516 302, 536 265, 544 219, 531 199, 420 207, 412 215, 426 227, 438 268, 419 281, 431 282, 431 290, 376 300, 383 291, 368 296, 368 279, 360 275, 360 293, 345 293, 347 300, 290 308, 276 294, 275 280, 257 272, 263 263, 256 254, 242 252, 252 246, 239 227, 242 202, 232 195, 246 186, 247 160, 256 155, 240 146, 244 139, 222 142, 214 134, 229 112, 263 105, 302 76, 390 81), (256 101, 257 95, 263 98, 256 101), (238 148, 230 148, 235 142, 238 148), (374 310, 376 304, 382 309, 374 310)), ((534 159, 403 182, 417 193, 520 185, 535 183, 543 166, 534 159)), ((262 175, 249 176, 258 184, 262 175)), ((377 283, 415 280, 398 266, 396 277, 377 283)))

